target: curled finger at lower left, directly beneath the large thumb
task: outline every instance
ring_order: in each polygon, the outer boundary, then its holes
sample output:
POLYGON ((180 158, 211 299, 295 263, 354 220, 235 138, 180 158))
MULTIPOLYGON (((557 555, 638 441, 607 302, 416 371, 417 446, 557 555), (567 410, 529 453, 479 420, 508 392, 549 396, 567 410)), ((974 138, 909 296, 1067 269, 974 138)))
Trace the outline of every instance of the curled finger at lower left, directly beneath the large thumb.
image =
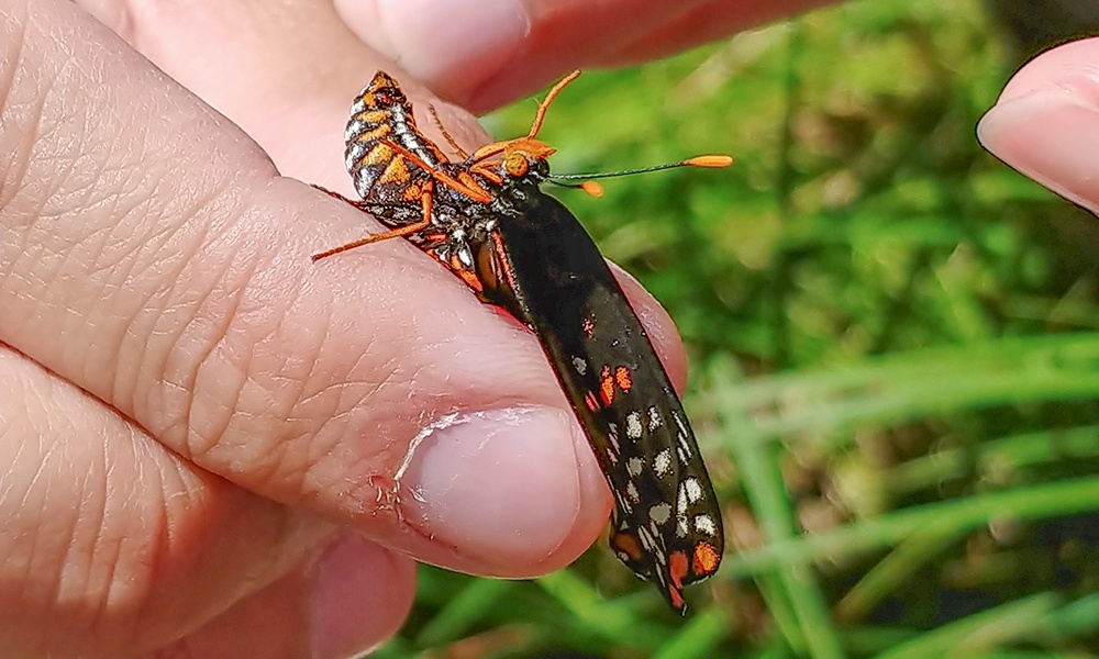
MULTIPOLYGON (((9 349, 0 349, 0 460, 5 656, 162 647, 275 581, 333 533, 196 470, 9 349), (67 632, 42 633, 55 629, 67 632)), ((402 571, 379 570, 390 585, 378 606, 410 596, 402 571)))

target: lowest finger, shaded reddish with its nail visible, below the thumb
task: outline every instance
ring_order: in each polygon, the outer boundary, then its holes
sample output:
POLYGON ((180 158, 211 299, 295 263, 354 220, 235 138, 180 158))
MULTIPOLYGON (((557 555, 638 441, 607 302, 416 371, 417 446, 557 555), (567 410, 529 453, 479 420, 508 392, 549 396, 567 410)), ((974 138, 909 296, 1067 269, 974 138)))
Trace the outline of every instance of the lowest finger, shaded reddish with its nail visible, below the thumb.
POLYGON ((412 561, 344 536, 156 657, 358 657, 391 637, 412 605, 412 561))

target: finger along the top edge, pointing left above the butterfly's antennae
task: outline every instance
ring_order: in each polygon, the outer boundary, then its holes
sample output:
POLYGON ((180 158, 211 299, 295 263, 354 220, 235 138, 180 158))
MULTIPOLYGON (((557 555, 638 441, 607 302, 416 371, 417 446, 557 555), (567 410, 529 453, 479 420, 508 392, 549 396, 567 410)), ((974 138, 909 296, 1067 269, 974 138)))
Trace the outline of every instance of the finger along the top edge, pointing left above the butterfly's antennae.
POLYGON ((334 0, 364 42, 482 112, 575 68, 668 55, 822 0, 334 0))

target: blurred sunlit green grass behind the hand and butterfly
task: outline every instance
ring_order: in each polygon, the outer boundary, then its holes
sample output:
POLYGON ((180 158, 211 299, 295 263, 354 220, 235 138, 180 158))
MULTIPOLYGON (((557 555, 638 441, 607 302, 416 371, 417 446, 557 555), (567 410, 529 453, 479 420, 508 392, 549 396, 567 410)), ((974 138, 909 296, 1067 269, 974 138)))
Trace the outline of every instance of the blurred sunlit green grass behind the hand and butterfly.
POLYGON ((686 619, 604 543, 422 568, 376 656, 1090 656, 1099 223, 977 145, 1012 58, 975 0, 862 0, 571 85, 555 171, 736 158, 555 191, 682 333, 732 548, 686 619))

